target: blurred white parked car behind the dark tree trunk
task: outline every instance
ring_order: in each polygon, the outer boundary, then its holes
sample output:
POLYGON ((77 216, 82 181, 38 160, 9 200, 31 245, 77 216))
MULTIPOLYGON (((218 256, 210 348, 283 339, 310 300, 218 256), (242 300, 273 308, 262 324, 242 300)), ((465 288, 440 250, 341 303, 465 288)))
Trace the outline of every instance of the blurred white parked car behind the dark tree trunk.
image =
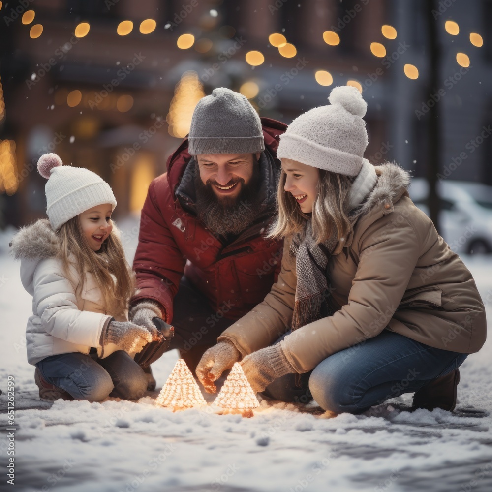
MULTIPOLYGON (((429 183, 414 178, 409 188, 417 207, 429 215, 429 183)), ((437 183, 439 233, 453 251, 466 254, 492 252, 492 186, 466 181, 437 183)))

